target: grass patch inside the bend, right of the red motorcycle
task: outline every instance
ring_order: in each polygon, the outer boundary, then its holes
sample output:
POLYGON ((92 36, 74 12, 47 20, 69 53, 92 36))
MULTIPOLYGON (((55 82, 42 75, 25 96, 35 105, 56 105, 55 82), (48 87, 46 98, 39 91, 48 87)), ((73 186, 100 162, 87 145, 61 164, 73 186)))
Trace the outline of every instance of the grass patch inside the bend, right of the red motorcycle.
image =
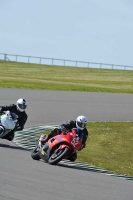
POLYGON ((89 137, 78 160, 133 176, 133 122, 90 122, 89 137))

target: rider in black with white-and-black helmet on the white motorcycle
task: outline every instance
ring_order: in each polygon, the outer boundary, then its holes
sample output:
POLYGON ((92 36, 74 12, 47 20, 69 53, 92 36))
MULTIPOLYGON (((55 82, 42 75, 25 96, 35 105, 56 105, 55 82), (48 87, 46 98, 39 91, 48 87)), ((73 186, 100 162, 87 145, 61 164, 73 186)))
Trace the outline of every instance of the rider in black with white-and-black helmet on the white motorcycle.
POLYGON ((16 104, 11 104, 9 106, 0 106, 0 113, 9 110, 10 112, 13 112, 18 116, 18 122, 16 124, 16 127, 13 130, 11 130, 7 135, 5 135, 2 139, 12 141, 15 136, 15 131, 22 131, 24 129, 24 125, 28 118, 25 112, 27 104, 28 103, 25 99, 20 98, 17 100, 16 104))

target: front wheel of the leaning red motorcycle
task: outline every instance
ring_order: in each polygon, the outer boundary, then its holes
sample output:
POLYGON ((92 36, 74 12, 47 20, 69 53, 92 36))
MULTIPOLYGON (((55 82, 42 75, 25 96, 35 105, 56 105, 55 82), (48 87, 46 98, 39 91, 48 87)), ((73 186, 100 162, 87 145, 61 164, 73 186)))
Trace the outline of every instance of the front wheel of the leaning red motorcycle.
POLYGON ((48 163, 51 165, 55 165, 58 162, 60 162, 62 159, 65 159, 70 153, 69 148, 64 148, 64 149, 55 149, 55 151, 52 153, 50 156, 48 163))

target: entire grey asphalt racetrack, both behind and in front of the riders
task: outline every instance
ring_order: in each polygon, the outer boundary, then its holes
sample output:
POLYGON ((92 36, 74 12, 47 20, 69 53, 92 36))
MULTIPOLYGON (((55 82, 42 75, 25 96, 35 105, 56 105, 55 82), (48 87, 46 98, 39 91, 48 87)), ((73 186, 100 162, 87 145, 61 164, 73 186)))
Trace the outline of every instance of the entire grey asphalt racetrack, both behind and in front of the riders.
MULTIPOLYGON (((132 121, 133 95, 0 89, 0 105, 29 102, 26 126, 61 123, 84 114, 90 121, 132 121)), ((34 161, 30 152, 0 140, 0 200, 132 200, 133 181, 34 161)))

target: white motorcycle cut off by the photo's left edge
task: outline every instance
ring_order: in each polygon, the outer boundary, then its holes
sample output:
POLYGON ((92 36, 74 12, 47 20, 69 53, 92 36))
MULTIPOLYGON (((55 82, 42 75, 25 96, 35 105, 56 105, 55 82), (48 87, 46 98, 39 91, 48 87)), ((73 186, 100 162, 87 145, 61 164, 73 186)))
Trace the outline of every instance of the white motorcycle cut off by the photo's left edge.
POLYGON ((10 112, 9 110, 6 113, 3 113, 0 116, 0 138, 3 138, 11 130, 13 130, 17 124, 18 116, 10 112))

